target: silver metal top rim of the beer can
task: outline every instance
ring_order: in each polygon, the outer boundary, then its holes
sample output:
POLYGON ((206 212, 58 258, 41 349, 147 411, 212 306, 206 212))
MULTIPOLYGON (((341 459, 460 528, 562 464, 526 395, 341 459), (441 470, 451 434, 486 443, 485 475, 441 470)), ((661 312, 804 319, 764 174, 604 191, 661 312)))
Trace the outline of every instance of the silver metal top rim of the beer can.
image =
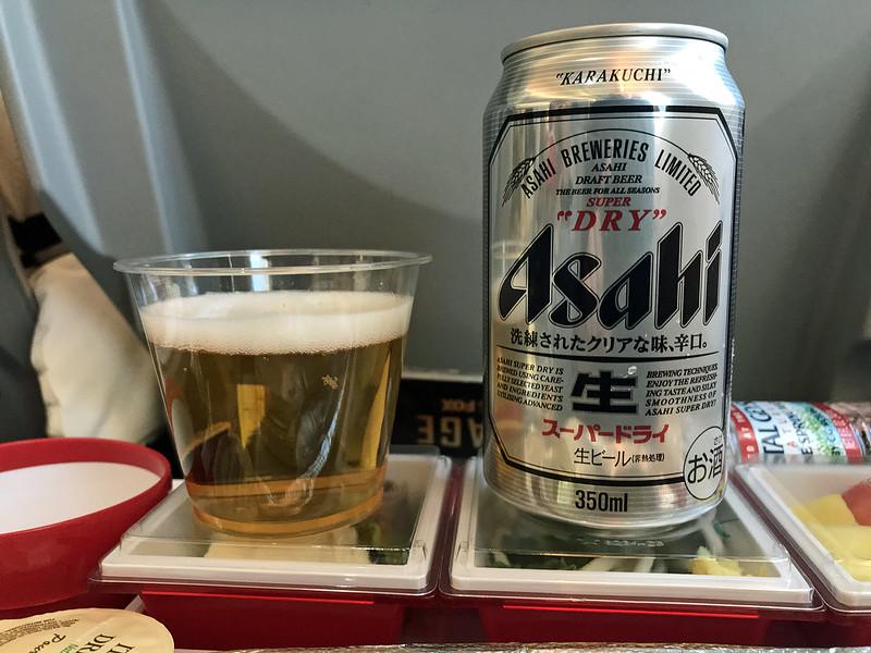
POLYGON ((716 44, 723 50, 728 48, 728 37, 725 34, 699 25, 685 25, 683 23, 602 23, 554 29, 527 36, 507 45, 502 50, 502 61, 504 63, 508 57, 539 46, 615 36, 676 36, 710 41, 716 44))

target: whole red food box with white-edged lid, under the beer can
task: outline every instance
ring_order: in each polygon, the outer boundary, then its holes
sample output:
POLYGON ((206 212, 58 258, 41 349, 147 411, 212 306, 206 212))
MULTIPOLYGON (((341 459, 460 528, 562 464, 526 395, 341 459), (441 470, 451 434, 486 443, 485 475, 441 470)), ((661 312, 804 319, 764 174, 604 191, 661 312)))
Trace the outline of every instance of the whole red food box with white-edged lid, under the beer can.
POLYGON ((543 520, 465 470, 441 591, 490 641, 798 641, 821 603, 740 494, 695 522, 627 538, 543 520))

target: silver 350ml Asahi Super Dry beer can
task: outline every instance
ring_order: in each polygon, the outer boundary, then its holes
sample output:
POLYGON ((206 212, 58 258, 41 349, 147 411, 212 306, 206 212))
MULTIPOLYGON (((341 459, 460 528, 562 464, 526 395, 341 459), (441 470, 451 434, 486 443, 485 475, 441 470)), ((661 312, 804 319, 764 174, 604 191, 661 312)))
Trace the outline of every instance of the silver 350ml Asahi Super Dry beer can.
POLYGON ((617 24, 503 51, 484 469, 520 508, 654 528, 723 496, 744 128, 726 44, 617 24))

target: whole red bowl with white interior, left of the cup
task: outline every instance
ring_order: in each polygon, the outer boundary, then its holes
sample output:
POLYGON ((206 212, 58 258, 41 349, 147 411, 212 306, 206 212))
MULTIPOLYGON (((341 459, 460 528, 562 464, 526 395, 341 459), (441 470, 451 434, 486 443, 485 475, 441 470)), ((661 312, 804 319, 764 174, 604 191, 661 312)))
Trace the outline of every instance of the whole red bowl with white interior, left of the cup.
POLYGON ((0 444, 0 619, 119 605, 88 593, 88 576, 169 486, 167 459, 137 444, 0 444))

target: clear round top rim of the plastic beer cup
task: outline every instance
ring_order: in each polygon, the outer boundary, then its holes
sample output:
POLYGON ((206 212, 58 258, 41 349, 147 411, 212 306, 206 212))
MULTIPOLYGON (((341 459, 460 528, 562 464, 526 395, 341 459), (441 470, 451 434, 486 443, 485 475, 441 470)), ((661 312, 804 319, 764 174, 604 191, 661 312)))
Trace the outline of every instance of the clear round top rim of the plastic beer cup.
POLYGON ((192 254, 171 254, 140 258, 121 259, 112 266, 125 274, 156 274, 165 276, 250 276, 255 274, 335 274, 341 272, 368 272, 390 270, 409 266, 422 266, 432 256, 414 251, 387 249, 226 249, 220 251, 197 251, 192 254), (351 263, 318 263, 304 266, 275 266, 268 268, 250 267, 196 267, 197 261, 233 256, 356 256, 378 260, 360 260, 351 263), (189 263, 188 267, 179 263, 189 263))

